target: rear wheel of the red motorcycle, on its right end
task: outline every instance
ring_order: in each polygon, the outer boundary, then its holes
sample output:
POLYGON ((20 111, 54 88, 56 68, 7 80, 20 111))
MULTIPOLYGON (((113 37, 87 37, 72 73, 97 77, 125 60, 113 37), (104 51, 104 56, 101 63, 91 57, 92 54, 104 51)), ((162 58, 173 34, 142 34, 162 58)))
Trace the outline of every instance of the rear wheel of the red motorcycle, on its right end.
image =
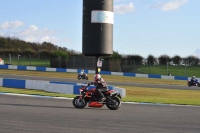
POLYGON ((121 101, 117 97, 110 97, 106 103, 110 110, 117 110, 121 106, 121 101))

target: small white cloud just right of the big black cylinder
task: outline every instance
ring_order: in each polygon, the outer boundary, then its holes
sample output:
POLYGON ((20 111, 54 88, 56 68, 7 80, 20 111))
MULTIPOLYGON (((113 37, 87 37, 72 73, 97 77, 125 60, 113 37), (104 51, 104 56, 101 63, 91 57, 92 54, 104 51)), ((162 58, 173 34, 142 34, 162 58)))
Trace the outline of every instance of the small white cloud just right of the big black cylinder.
POLYGON ((132 2, 130 2, 128 5, 115 5, 114 6, 114 12, 119 14, 125 14, 127 12, 133 12, 135 10, 135 6, 132 2))

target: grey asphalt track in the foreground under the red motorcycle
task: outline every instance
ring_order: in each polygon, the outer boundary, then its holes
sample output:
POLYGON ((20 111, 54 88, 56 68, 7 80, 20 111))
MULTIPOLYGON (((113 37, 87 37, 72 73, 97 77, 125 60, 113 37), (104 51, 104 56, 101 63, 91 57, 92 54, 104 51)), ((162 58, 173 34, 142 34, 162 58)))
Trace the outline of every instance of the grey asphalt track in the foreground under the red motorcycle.
POLYGON ((76 109, 67 99, 0 94, 1 133, 199 133, 199 123, 195 106, 76 109))

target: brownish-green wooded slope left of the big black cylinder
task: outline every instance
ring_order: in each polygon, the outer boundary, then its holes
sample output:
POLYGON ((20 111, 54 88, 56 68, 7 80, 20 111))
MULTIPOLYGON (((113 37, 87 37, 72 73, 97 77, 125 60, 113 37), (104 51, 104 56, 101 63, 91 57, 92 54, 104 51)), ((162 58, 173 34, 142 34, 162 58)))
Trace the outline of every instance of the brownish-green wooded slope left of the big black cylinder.
POLYGON ((17 38, 0 36, 0 55, 21 55, 32 58, 66 58, 71 54, 81 54, 80 52, 59 47, 50 42, 35 43, 26 42, 17 38))

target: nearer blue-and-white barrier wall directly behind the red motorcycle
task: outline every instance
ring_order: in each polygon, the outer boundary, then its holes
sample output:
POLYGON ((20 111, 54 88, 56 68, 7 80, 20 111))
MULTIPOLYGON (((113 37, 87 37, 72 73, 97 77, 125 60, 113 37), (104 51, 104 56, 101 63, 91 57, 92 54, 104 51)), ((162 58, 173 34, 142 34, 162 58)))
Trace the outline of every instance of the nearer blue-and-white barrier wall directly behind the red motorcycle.
MULTIPOLYGON (((44 90, 47 92, 57 92, 61 94, 77 94, 79 86, 85 84, 77 83, 50 83, 50 81, 41 80, 21 80, 21 79, 8 79, 0 78, 0 86, 8 88, 23 88, 23 89, 35 89, 44 90), (78 87, 78 88, 77 88, 78 87)), ((117 90, 122 97, 126 96, 126 90, 122 88, 116 88, 112 86, 113 90, 117 90)), ((79 93, 78 93, 79 94, 79 93)))

